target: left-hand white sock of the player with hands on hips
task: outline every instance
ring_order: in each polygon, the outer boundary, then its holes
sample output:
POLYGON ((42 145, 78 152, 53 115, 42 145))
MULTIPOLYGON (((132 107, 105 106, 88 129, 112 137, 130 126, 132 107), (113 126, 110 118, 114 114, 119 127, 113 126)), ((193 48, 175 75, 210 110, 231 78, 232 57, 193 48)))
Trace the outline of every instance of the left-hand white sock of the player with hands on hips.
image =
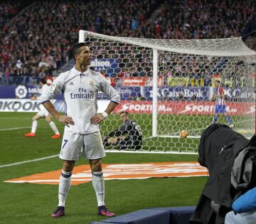
POLYGON ((58 191, 58 206, 65 207, 65 201, 68 196, 68 191, 71 186, 72 172, 62 171, 60 176, 59 191, 58 191))

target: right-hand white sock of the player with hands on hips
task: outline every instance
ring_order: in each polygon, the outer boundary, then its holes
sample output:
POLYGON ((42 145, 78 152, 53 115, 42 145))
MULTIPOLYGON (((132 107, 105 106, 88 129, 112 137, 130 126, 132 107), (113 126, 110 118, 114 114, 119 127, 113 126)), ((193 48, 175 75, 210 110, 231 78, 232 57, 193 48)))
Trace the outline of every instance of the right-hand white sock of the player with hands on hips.
POLYGON ((105 206, 105 183, 102 171, 92 172, 92 186, 95 189, 98 206, 105 206))

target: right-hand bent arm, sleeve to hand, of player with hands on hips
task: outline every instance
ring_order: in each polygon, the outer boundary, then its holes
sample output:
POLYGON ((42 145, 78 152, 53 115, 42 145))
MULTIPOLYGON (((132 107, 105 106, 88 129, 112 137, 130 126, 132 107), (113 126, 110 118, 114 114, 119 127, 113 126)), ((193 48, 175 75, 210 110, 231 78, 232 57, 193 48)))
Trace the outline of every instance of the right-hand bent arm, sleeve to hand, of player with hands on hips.
POLYGON ((95 114, 91 118, 92 124, 99 124, 101 121, 107 119, 108 114, 111 114, 115 107, 120 102, 119 93, 107 82, 105 78, 100 75, 100 90, 110 98, 110 103, 107 105, 107 109, 102 114, 95 114))

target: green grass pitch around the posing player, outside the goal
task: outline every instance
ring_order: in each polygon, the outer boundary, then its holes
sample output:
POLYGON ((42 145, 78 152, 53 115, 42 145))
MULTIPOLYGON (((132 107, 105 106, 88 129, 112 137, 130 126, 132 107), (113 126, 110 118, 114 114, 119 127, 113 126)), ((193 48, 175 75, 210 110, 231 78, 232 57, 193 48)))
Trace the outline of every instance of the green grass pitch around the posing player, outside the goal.
MULTIPOLYGON (((34 113, 0 113, 0 166, 20 161, 38 159, 58 154, 61 139, 50 139, 52 130, 44 120, 38 122, 36 138, 23 135, 30 132, 31 117, 34 113)), ((138 115, 140 124, 145 120, 138 115)), ((116 117, 117 118, 117 117, 116 117)), ((110 119, 114 119, 110 117, 110 119)), ((117 118, 119 119, 119 118, 117 118)), ((63 132, 63 126, 58 128, 63 132)), ((110 127, 102 125, 102 134, 110 127)), ((119 120, 116 122, 118 126, 119 120)), ((144 135, 150 135, 150 130, 144 135)), ((185 154, 111 154, 103 159, 105 164, 143 163, 160 161, 196 161, 198 156, 185 154)), ((76 165, 87 164, 80 159, 76 165)), ((50 218, 58 203, 58 186, 30 183, 4 183, 6 179, 28 176, 60 169, 62 161, 58 157, 42 161, 0 168, 0 223, 89 223, 102 220, 97 216, 97 202, 91 183, 70 188, 66 203, 66 215, 50 218)), ((206 177, 191 178, 149 178, 145 180, 105 181, 107 206, 122 215, 134 210, 166 206, 196 205, 206 177)))

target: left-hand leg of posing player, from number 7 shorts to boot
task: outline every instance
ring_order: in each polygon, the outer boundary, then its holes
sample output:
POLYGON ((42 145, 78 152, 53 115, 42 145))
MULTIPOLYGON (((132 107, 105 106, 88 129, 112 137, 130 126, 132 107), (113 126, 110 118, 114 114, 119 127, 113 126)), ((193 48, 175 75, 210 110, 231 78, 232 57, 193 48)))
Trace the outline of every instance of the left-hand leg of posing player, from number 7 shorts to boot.
POLYGON ((63 142, 60 149, 60 159, 63 159, 63 171, 60 174, 59 191, 58 191, 58 208, 51 215, 58 218, 65 214, 65 201, 71 186, 71 176, 75 161, 80 157, 82 149, 82 137, 80 134, 73 132, 64 132, 63 142))

